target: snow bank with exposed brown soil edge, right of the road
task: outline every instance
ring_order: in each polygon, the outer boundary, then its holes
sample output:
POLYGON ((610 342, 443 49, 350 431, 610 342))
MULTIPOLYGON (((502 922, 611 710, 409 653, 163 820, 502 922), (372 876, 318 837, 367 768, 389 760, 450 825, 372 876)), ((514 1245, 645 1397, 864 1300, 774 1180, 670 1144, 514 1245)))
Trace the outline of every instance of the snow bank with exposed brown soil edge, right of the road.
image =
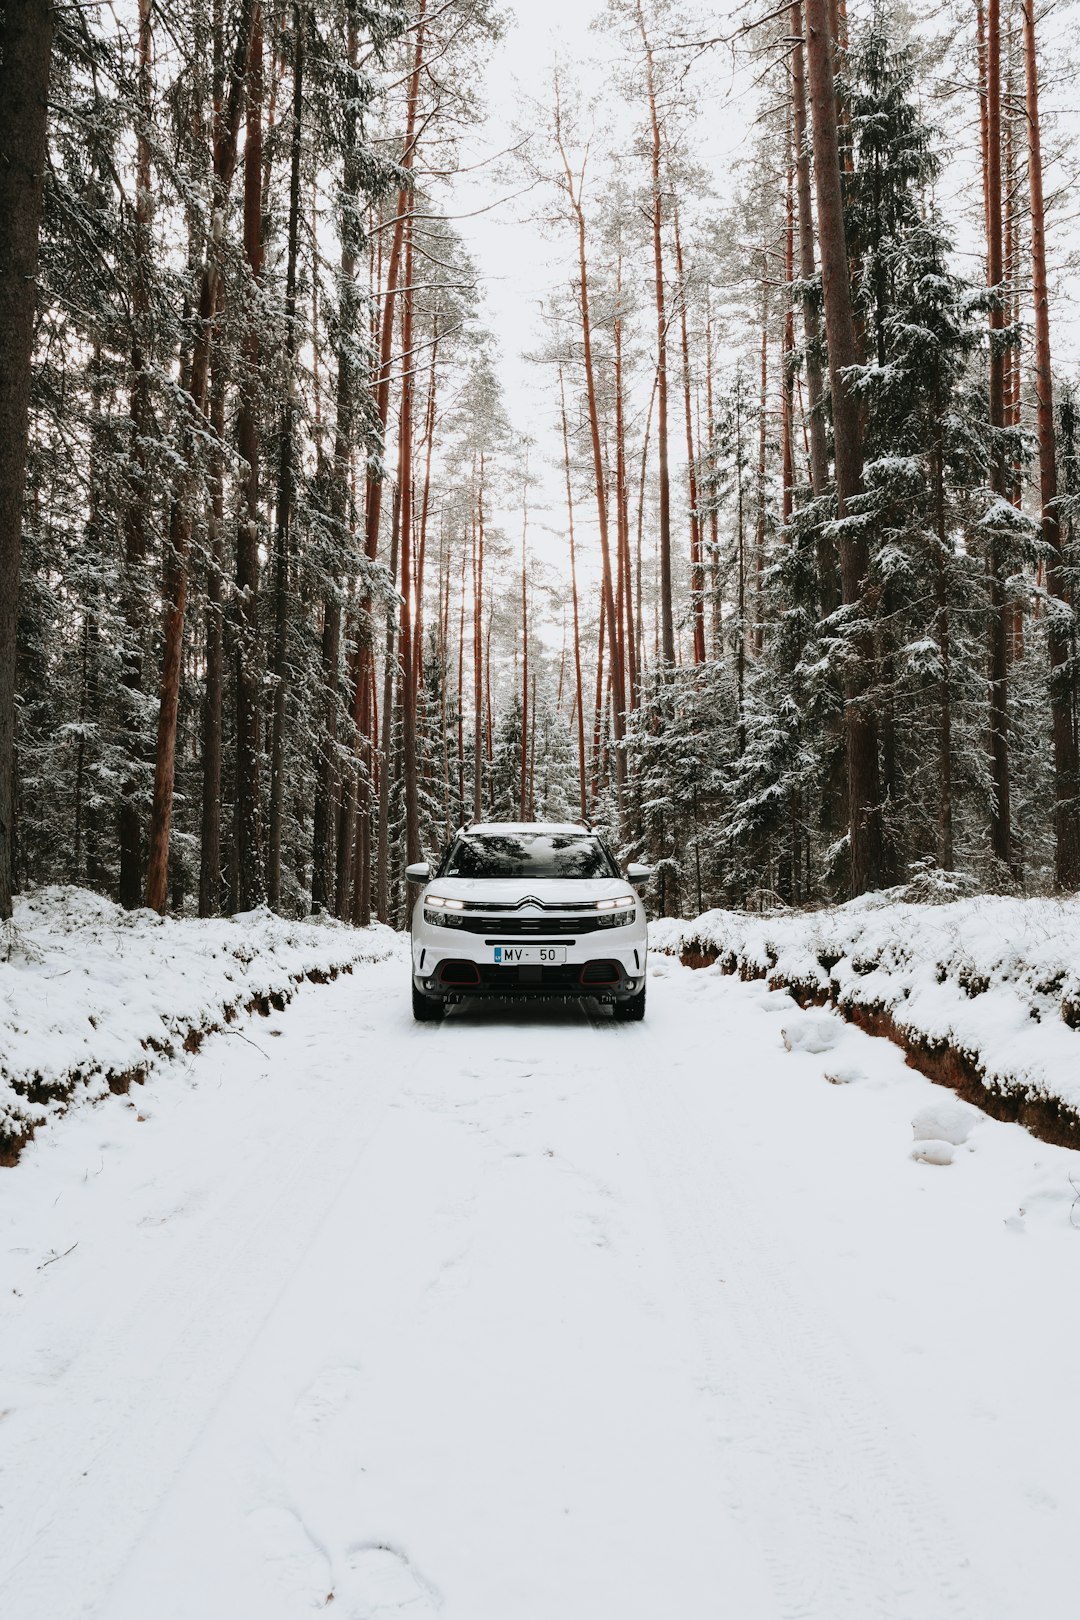
POLYGON ((711 910, 651 923, 649 944, 832 1004, 997 1118, 1080 1147, 1080 897, 711 910))

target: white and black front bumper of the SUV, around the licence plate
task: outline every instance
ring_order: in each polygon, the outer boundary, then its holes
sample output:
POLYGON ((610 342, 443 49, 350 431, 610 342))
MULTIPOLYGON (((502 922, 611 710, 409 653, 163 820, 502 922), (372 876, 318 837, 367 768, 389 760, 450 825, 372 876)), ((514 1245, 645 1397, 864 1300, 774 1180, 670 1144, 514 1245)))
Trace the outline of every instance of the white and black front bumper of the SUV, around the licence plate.
POLYGON ((426 996, 460 1001, 463 996, 529 996, 570 1000, 596 996, 627 1001, 644 987, 646 930, 643 923, 602 928, 573 936, 541 933, 500 935, 497 922, 489 933, 413 925, 413 983, 426 996), (494 948, 541 944, 565 949, 555 966, 499 966, 494 948))

